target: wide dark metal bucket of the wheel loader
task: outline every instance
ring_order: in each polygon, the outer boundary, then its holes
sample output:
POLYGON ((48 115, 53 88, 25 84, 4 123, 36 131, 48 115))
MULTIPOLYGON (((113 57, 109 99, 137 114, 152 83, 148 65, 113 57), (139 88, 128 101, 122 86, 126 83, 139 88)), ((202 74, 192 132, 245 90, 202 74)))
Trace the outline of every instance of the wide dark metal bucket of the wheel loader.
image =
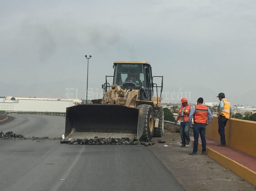
POLYGON ((132 139, 143 132, 139 109, 117 104, 81 104, 67 107, 65 138, 132 139), (141 129, 142 128, 142 129, 141 129))

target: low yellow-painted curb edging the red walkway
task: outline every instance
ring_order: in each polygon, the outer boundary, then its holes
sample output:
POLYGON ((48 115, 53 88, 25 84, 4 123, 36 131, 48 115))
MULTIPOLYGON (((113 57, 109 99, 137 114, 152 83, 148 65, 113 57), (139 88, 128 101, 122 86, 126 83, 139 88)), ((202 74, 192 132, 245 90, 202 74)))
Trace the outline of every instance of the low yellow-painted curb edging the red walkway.
MULTIPOLYGON (((190 146, 193 147, 194 140, 190 140, 190 146)), ((202 150, 202 144, 198 143, 198 150, 202 150)), ((209 147, 207 147, 206 144, 206 155, 211 157, 213 160, 220 163, 222 166, 225 166, 226 168, 232 170, 234 173, 236 173, 238 176, 246 180, 247 182, 253 184, 256 186, 256 172, 254 172, 251 169, 248 169, 246 166, 238 163, 235 160, 230 159, 227 156, 224 156, 223 154, 217 152, 216 150, 213 150, 209 147)))

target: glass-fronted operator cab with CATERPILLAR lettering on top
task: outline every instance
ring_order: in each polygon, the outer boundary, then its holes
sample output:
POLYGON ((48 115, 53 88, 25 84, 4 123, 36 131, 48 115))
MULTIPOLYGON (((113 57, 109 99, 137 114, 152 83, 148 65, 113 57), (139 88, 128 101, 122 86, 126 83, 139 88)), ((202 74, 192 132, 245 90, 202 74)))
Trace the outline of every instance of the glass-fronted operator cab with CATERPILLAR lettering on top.
POLYGON ((151 100, 153 81, 151 66, 147 62, 114 62, 113 84, 122 89, 139 89, 140 100, 151 100))

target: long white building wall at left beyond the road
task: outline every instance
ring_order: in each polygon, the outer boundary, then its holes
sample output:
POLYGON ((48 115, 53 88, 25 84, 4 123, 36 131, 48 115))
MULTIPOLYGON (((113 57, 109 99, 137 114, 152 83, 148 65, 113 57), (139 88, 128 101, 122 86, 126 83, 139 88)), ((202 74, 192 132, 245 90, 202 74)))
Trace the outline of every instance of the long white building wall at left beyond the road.
POLYGON ((4 111, 66 112, 66 108, 71 106, 73 106, 73 101, 18 100, 18 103, 0 102, 0 110, 4 111))

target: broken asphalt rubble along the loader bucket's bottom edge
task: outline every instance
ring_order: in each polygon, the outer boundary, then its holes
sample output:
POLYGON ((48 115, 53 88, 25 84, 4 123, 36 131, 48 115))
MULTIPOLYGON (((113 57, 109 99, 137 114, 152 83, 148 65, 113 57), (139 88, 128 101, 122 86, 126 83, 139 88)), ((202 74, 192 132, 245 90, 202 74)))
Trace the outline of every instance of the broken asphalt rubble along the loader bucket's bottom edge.
POLYGON ((94 139, 72 139, 62 140, 61 143, 73 144, 73 145, 137 145, 138 139, 133 138, 98 138, 94 139))

